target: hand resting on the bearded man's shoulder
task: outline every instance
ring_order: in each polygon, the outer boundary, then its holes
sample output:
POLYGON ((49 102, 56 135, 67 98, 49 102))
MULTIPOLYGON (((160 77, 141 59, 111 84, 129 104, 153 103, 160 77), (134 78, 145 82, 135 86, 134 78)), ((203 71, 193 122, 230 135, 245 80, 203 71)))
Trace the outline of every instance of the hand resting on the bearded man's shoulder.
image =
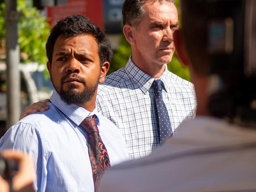
POLYGON ((33 103, 32 105, 28 106, 25 108, 25 111, 20 115, 20 119, 23 119, 25 116, 27 116, 30 113, 37 113, 39 112, 45 112, 46 110, 49 109, 48 105, 45 103, 50 102, 49 99, 46 99, 44 102, 36 102, 33 103))

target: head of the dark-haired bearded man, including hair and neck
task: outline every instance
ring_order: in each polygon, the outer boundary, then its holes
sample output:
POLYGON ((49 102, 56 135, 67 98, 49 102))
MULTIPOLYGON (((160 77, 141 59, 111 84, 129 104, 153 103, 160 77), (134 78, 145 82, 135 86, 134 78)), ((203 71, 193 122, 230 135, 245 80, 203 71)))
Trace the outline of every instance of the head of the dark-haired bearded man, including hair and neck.
POLYGON ((51 30, 46 53, 61 99, 93 110, 97 85, 104 82, 113 55, 104 33, 82 15, 66 17, 51 30))

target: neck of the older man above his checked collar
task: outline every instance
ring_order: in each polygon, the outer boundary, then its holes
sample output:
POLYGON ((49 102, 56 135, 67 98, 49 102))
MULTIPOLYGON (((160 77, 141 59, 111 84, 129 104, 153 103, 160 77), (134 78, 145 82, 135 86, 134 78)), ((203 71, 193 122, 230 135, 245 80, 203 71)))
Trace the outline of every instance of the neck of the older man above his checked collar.
POLYGON ((132 54, 132 62, 143 72, 151 76, 152 78, 160 78, 165 70, 165 64, 153 63, 148 61, 143 56, 138 54, 132 54))

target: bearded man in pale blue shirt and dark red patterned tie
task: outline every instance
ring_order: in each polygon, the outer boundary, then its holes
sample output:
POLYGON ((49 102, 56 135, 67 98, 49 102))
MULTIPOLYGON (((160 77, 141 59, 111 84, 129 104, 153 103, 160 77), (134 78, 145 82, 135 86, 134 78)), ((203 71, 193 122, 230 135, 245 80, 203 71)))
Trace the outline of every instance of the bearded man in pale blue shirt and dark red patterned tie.
POLYGON ((98 190, 101 174, 128 158, 119 129, 98 113, 98 83, 113 55, 104 33, 82 15, 59 21, 46 43, 54 92, 49 110, 23 118, 0 140, 35 160, 36 191, 98 190))

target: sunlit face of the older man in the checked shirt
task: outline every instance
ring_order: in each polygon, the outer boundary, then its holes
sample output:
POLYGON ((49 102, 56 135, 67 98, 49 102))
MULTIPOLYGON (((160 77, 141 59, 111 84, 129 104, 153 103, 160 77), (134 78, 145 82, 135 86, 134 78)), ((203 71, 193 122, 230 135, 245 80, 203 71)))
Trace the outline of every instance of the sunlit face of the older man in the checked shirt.
POLYGON ((169 63, 175 50, 173 33, 178 29, 178 12, 173 3, 158 1, 144 5, 145 17, 137 27, 133 58, 152 65, 169 63))

